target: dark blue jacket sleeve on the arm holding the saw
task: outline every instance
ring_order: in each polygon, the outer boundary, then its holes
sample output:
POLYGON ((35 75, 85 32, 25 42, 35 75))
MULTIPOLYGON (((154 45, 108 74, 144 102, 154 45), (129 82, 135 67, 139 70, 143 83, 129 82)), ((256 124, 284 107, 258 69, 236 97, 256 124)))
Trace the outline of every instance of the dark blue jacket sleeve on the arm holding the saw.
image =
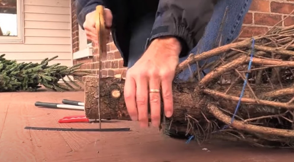
POLYGON ((104 5, 103 0, 76 0, 77 21, 83 30, 86 15, 95 11, 97 5, 104 5))

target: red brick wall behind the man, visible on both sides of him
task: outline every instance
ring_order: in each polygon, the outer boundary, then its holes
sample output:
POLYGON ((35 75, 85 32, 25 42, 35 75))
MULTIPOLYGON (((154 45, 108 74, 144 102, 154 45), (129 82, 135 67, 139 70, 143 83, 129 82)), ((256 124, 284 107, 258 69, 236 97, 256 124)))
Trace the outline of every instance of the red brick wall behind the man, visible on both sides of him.
MULTIPOLYGON (((249 12, 244 18, 240 39, 260 35, 268 31, 270 27, 289 15, 294 9, 294 0, 252 0, 249 12)), ((73 28, 73 52, 79 47, 78 27, 73 6, 72 28, 73 28)), ((289 26, 294 24, 294 15, 279 23, 278 26, 289 26)), ((123 60, 117 51, 113 41, 107 44, 107 54, 102 56, 103 76, 114 76, 121 74, 125 76, 126 68, 123 67, 123 60)), ((91 58, 74 60, 74 64, 84 63, 82 69, 91 70, 93 74, 98 74, 98 53, 94 52, 91 58)))

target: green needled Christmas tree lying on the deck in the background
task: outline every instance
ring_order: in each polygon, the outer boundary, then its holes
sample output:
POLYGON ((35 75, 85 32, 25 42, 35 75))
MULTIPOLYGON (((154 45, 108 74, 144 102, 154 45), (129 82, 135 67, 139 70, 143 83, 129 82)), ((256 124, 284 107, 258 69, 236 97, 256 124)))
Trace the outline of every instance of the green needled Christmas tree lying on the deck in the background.
POLYGON ((75 90, 65 81, 65 77, 76 87, 81 88, 70 76, 78 81, 81 76, 89 75, 90 72, 79 70, 80 65, 72 67, 62 66, 60 63, 48 65, 51 59, 44 59, 41 63, 18 63, 15 60, 6 60, 5 54, 0 56, 0 92, 36 91, 43 85, 54 91, 75 90), (58 83, 63 81, 64 83, 58 83))

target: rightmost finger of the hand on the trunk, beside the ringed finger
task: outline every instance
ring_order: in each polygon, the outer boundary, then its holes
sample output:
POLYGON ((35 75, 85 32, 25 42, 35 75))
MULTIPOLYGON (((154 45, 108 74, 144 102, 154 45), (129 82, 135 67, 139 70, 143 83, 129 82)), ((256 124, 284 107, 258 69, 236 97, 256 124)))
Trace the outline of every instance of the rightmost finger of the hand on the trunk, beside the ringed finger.
POLYGON ((173 95, 172 95, 173 77, 169 75, 161 76, 161 91, 164 105, 164 113, 166 117, 171 117, 173 114, 173 95))

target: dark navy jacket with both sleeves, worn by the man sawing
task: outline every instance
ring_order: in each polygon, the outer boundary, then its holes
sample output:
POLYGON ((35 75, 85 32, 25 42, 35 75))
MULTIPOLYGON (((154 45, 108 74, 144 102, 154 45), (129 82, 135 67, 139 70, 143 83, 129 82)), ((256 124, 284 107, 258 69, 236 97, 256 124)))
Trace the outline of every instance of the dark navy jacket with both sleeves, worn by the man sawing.
MULTIPOLYGON (((104 5, 112 11, 112 37, 120 51, 124 66, 128 65, 130 32, 128 28, 128 0, 76 0, 77 20, 82 27, 85 16, 97 5, 104 5)), ((139 1, 139 0, 137 0, 139 1)), ((144 1, 144 0, 140 0, 144 1)), ((146 0, 145 0, 146 1, 146 0)), ((184 57, 201 39, 217 0, 149 0, 157 11, 149 42, 161 36, 174 36, 182 44, 180 57, 184 57), (155 3, 154 3, 155 2, 155 3)), ((142 9, 144 9, 142 7, 142 9)), ((83 28, 83 27, 82 27, 83 28)))

